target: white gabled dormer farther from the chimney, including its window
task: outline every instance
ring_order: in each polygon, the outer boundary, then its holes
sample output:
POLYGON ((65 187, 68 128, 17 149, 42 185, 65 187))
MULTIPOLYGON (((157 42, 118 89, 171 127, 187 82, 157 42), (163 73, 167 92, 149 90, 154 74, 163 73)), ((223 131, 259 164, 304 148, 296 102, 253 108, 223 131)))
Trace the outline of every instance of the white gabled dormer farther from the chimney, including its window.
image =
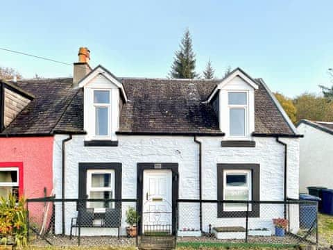
POLYGON ((235 69, 217 85, 207 102, 219 94, 219 126, 226 140, 249 140, 255 131, 255 90, 258 85, 235 69))

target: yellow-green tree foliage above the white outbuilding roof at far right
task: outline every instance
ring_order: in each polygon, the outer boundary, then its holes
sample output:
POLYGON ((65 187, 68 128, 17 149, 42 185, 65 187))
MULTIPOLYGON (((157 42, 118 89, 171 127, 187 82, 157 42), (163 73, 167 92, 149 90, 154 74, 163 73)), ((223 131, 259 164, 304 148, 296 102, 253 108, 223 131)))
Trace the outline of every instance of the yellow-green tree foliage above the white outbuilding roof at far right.
POLYGON ((296 121, 333 121, 333 102, 316 94, 304 93, 293 100, 296 106, 296 121))

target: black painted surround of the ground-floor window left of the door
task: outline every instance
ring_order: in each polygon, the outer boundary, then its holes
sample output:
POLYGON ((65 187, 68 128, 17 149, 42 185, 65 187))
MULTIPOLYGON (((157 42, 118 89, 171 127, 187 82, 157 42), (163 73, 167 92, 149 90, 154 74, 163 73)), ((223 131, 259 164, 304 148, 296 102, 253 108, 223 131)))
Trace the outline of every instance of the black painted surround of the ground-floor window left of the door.
MULTIPOLYGON (((78 163, 78 199, 87 199, 87 170, 114 170, 114 199, 121 200, 121 163, 78 163)), ((87 206, 83 202, 83 206, 87 206)), ((103 217, 105 213, 94 213, 96 217, 103 217)))

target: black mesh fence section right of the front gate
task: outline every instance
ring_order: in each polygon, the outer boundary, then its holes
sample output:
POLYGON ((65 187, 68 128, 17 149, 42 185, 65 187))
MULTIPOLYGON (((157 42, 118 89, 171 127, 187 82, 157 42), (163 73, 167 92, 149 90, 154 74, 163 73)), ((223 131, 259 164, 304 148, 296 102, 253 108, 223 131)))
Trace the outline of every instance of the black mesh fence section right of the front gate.
POLYGON ((178 200, 178 245, 318 244, 316 201, 178 200))

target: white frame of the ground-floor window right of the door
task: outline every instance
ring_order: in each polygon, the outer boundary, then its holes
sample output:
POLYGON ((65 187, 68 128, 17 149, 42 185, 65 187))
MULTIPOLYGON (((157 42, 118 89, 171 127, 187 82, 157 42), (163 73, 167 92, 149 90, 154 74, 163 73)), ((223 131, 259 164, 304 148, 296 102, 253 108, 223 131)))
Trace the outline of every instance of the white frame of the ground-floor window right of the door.
MULTIPOLYGON (((225 191, 226 190, 236 190, 236 191, 248 191, 248 201, 252 200, 252 171, 248 169, 244 170, 224 170, 223 171, 223 200, 225 200, 225 191), (246 187, 228 187, 227 185, 227 174, 246 174, 246 187)), ((245 208, 240 208, 239 206, 230 206, 231 203, 228 203, 228 206, 225 206, 224 203, 224 211, 246 211, 245 208)), ((251 210, 251 206, 249 206, 249 211, 251 210)))

